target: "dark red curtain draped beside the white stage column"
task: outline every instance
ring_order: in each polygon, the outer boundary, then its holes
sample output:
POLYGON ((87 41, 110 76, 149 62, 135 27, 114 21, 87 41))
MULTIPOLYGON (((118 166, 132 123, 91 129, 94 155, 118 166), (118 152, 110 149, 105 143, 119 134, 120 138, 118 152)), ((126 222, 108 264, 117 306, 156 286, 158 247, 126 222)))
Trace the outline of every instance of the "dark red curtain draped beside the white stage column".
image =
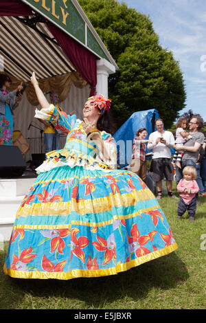
POLYGON ((93 96, 97 85, 97 63, 95 56, 73 40, 73 38, 65 34, 65 32, 59 30, 55 25, 47 23, 47 27, 82 78, 91 85, 90 96, 93 96))

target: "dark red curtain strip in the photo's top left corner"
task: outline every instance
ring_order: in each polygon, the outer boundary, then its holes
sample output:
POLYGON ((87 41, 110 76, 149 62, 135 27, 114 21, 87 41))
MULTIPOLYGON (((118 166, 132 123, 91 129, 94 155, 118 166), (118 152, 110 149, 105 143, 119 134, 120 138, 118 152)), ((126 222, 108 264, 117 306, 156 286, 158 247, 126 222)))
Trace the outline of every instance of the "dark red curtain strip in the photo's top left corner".
POLYGON ((18 0, 0 0, 0 16, 30 16, 30 7, 18 0))

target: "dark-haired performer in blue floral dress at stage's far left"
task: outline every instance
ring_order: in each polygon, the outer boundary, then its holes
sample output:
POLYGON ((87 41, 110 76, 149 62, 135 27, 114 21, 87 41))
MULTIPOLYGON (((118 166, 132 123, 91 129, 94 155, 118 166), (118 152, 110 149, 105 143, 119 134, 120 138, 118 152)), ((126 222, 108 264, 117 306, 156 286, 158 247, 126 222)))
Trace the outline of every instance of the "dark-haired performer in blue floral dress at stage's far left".
POLYGON ((19 105, 22 94, 16 92, 23 87, 19 85, 14 91, 8 92, 12 80, 7 74, 0 74, 0 145, 12 146, 13 110, 19 105), (14 100, 16 98, 16 100, 14 100))

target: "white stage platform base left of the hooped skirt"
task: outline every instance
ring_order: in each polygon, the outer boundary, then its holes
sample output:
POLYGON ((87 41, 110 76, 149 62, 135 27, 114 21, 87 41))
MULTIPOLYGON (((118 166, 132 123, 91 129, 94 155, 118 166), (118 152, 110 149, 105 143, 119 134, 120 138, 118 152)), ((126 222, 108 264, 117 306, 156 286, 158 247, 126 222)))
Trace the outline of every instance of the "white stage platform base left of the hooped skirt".
POLYGON ((21 177, 0 178, 0 241, 9 241, 16 212, 30 190, 35 171, 26 170, 21 177))

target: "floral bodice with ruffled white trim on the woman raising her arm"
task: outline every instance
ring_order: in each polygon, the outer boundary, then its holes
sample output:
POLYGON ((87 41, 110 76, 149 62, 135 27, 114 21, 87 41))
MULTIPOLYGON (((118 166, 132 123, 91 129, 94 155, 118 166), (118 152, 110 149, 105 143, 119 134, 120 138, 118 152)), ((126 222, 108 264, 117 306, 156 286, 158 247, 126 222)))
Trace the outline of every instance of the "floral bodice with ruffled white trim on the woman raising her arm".
POLYGON ((104 141, 104 148, 110 156, 110 160, 106 160, 102 153, 98 151, 95 141, 87 139, 87 134, 82 128, 82 121, 78 120, 76 115, 67 115, 50 104, 49 109, 36 110, 35 117, 52 122, 59 133, 67 134, 65 147, 47 153, 47 159, 37 168, 37 172, 65 165, 71 167, 83 166, 91 169, 103 168, 104 170, 115 168, 116 145, 110 134, 105 131, 100 133, 104 141))

